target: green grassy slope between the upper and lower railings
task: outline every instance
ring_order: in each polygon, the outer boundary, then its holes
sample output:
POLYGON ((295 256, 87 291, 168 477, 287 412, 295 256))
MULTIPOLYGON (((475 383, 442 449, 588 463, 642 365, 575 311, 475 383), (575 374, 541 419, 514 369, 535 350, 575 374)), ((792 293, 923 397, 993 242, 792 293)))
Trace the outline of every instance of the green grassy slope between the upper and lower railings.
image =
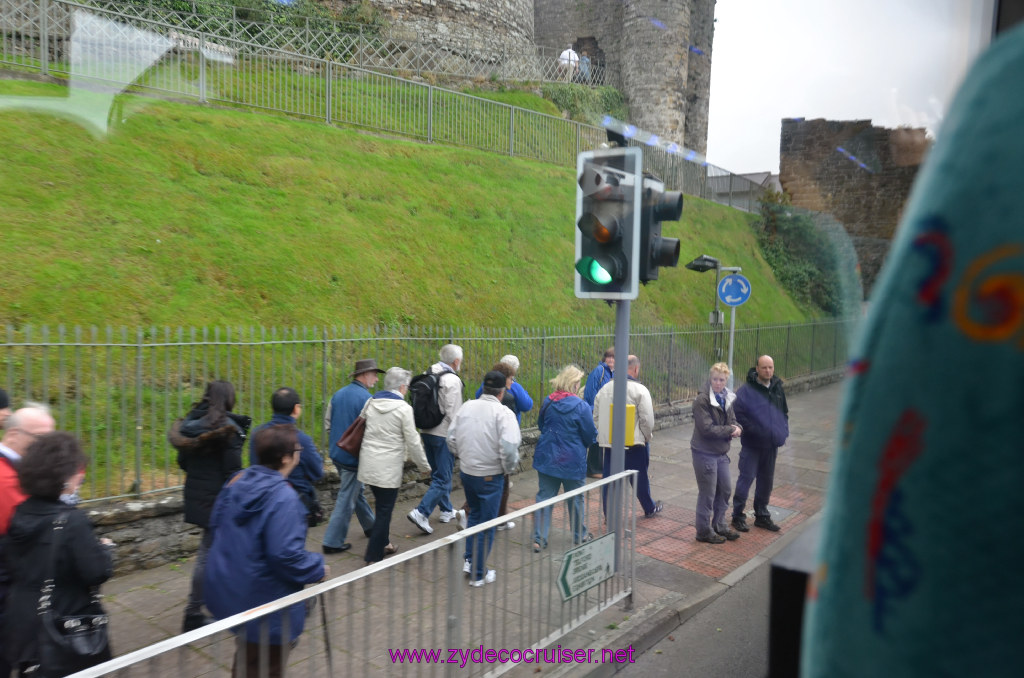
MULTIPOLYGON (((0 94, 42 93, 62 90, 0 81, 0 94)), ((613 321, 572 295, 568 168, 194 104, 124 109, 101 139, 0 112, 0 323, 613 321)), ((750 218, 688 198, 666 235, 682 262, 743 266, 755 295, 741 324, 804 320, 750 218)), ((634 324, 705 323, 712 295, 710 274, 663 269, 634 324)))

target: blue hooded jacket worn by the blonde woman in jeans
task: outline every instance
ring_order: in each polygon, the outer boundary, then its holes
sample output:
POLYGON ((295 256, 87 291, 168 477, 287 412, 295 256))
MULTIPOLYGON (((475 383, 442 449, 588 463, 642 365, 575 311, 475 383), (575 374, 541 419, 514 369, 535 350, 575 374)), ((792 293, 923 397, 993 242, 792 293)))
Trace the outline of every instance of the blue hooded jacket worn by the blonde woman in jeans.
POLYGON ((541 438, 534 451, 534 468, 556 478, 587 475, 587 448, 597 439, 594 411, 583 398, 555 392, 541 406, 537 420, 541 438))

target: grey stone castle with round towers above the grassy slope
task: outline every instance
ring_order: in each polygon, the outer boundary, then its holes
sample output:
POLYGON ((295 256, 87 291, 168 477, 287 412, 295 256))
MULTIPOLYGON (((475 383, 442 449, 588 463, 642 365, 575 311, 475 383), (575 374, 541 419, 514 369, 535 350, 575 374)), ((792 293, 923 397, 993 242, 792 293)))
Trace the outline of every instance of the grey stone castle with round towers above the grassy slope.
MULTIPOLYGON (((354 0, 328 0, 336 7, 354 0)), ((502 48, 572 45, 626 96, 637 127, 700 154, 716 0, 370 0, 413 39, 502 48)))

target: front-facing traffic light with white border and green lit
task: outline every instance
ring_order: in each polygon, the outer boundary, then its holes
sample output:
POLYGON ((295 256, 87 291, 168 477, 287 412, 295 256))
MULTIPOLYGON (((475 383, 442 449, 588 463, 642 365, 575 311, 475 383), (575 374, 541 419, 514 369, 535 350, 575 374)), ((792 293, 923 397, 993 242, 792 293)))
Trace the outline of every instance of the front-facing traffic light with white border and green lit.
POLYGON ((640 149, 590 151, 577 159, 575 296, 636 299, 640 149))

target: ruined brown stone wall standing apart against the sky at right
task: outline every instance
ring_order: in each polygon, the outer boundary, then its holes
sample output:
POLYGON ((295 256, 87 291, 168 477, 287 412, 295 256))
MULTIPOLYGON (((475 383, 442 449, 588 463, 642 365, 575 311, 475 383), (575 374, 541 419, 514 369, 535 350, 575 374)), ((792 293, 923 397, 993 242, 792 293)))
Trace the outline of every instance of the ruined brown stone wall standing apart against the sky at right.
POLYGON ((865 295, 930 145, 924 129, 873 127, 869 120, 782 121, 782 189, 795 206, 843 224, 857 250, 865 295))

